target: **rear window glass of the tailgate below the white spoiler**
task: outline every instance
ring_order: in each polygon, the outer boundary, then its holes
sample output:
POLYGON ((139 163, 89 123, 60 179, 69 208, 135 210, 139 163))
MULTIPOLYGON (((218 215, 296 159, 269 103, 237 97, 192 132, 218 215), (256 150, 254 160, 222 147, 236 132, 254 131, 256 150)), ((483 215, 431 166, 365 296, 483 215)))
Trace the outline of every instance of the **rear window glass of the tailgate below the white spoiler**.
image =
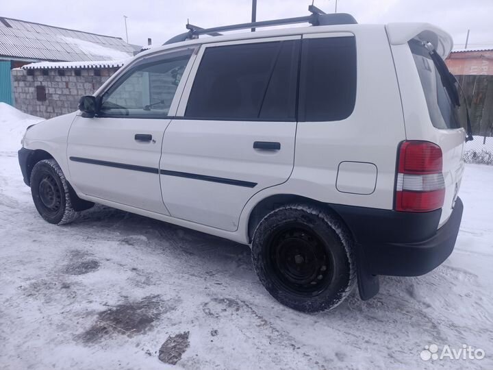
POLYGON ((466 128, 467 108, 459 84, 444 61, 423 42, 409 41, 427 101, 431 123, 438 129, 466 128))

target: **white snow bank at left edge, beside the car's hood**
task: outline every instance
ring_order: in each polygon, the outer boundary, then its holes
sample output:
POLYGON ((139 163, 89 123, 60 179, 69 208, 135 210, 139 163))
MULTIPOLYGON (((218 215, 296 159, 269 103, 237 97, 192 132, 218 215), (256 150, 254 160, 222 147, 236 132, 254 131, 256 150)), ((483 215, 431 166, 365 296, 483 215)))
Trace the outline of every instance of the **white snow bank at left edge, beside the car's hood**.
POLYGON ((27 126, 40 121, 45 119, 25 114, 0 102, 0 152, 16 152, 21 149, 21 139, 27 126))

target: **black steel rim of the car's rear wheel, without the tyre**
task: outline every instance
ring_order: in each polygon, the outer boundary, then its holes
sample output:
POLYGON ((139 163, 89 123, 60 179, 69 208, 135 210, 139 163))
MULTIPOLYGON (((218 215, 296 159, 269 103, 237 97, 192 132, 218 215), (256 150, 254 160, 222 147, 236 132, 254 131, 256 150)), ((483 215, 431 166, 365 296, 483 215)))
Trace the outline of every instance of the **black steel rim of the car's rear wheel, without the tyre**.
POLYGON ((320 237, 303 225, 289 225, 270 238, 268 264, 281 288, 314 296, 333 279, 333 258, 320 237))

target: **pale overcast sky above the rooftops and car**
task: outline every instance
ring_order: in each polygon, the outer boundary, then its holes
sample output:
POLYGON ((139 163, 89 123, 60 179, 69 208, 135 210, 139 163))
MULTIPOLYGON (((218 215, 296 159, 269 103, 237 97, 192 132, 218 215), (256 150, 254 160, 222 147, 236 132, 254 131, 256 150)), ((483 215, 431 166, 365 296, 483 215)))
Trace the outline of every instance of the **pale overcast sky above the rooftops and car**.
MULTIPOLYGON (((162 44, 185 32, 187 18, 201 27, 250 21, 251 0, 0 0, 0 16, 118 36, 129 42, 162 44)), ((257 0, 257 21, 306 15, 311 0, 257 0)), ((336 0, 315 0, 333 12, 336 0)), ((353 14, 359 23, 424 21, 452 34, 455 47, 493 46, 493 0, 338 0, 338 12, 353 14)))

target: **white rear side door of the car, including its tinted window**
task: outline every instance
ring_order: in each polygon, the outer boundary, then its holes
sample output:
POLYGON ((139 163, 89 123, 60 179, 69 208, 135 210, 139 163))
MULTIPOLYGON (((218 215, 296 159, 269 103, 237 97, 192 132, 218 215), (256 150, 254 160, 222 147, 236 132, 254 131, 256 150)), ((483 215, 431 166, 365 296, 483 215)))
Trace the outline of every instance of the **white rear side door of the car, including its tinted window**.
POLYGON ((203 45, 164 134, 171 216, 234 231, 244 204, 294 163, 301 36, 203 45))

